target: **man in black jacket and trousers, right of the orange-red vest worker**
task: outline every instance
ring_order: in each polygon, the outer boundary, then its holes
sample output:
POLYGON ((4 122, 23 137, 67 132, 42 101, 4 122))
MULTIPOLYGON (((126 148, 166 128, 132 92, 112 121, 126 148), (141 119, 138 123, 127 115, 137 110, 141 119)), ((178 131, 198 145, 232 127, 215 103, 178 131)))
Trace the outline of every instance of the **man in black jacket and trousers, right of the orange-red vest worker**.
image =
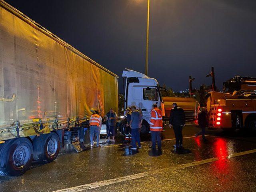
POLYGON ((175 148, 182 148, 182 128, 185 126, 186 118, 185 112, 182 108, 178 107, 176 103, 172 104, 173 108, 170 113, 169 126, 173 126, 176 144, 175 148))

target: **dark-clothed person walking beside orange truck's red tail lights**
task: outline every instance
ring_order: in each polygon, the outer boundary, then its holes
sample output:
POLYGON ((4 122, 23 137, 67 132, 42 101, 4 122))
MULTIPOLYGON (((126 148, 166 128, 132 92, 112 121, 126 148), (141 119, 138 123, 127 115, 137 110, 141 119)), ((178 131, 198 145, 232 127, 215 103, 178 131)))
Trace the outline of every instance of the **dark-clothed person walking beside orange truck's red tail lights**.
POLYGON ((205 128, 208 126, 207 121, 207 108, 206 107, 200 107, 198 112, 198 124, 201 127, 201 131, 195 134, 197 137, 198 135, 202 135, 202 139, 204 142, 206 142, 205 138, 205 128))

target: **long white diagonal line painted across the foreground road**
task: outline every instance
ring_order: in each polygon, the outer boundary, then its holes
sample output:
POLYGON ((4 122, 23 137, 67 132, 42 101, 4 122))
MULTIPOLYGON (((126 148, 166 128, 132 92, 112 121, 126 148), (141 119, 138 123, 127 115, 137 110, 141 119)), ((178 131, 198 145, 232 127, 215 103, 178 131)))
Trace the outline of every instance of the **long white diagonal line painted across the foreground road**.
MULTIPOLYGON (((234 153, 234 154, 231 154, 229 156, 226 156, 226 158, 243 156, 243 155, 252 154, 252 153, 256 153, 256 149, 234 153)), ((123 177, 119 177, 119 178, 114 178, 114 179, 94 182, 94 183, 90 183, 90 184, 80 185, 80 186, 76 186, 76 187, 61 189, 61 190, 57 190, 57 191, 54 191, 54 192, 81 192, 81 191, 85 191, 85 190, 92 189, 92 188, 99 188, 99 187, 110 185, 110 184, 115 184, 115 183, 120 183, 120 182, 124 182, 124 181, 128 181, 128 180, 134 180, 134 179, 146 177, 146 176, 149 176, 150 173, 159 173, 159 172, 164 172, 166 170, 168 170, 168 171, 179 170, 179 169, 188 168, 188 167, 197 166, 197 165, 202 165, 202 164, 206 164, 206 163, 210 163, 210 162, 214 162, 214 161, 218 161, 218 160, 219 160, 219 158, 214 157, 214 158, 205 159, 205 160, 201 160, 201 161, 195 161, 195 162, 191 162, 191 163, 172 166, 172 167, 169 167, 169 168, 163 168, 163 169, 160 169, 160 170, 157 170, 157 171, 142 172, 142 173, 123 176, 123 177)))

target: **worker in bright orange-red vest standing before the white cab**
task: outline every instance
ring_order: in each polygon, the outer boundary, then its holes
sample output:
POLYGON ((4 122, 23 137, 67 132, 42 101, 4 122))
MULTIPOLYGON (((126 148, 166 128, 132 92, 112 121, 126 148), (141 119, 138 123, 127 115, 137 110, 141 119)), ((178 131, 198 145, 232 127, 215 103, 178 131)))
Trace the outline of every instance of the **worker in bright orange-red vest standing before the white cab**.
POLYGON ((151 111, 151 119, 150 119, 152 150, 156 150, 156 140, 157 140, 158 150, 162 150, 162 142, 161 142, 162 130, 163 130, 162 111, 158 109, 157 104, 153 104, 152 111, 151 111))

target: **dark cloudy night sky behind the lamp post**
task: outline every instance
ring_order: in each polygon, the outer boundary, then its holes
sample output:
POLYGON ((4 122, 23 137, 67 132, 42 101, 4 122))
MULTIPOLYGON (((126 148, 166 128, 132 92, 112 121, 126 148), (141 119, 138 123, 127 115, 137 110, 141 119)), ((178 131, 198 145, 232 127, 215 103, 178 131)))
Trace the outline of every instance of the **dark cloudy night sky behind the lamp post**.
MULTIPOLYGON (((6 0, 119 79, 144 73, 146 0, 6 0)), ((256 76, 255 0, 151 0, 150 77, 175 91, 216 84, 234 75, 256 76)))

